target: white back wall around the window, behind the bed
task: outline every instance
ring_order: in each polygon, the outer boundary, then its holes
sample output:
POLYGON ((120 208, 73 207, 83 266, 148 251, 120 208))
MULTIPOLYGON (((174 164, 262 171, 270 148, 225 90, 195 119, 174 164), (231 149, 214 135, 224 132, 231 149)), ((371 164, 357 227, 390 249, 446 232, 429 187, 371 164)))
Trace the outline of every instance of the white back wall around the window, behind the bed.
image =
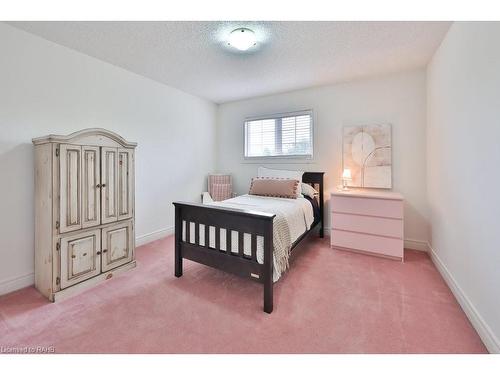
MULTIPOLYGON (((425 104, 423 70, 222 104, 217 114, 217 167, 220 171, 233 173, 239 193, 247 192, 250 179, 261 163, 248 163, 243 159, 245 117, 312 109, 314 161, 271 165, 282 169, 324 171, 328 192, 341 183, 342 127, 390 123, 393 189, 406 198, 405 237, 421 241, 410 246, 425 247, 428 240, 425 104)), ((325 219, 329 226, 328 215, 325 219)))

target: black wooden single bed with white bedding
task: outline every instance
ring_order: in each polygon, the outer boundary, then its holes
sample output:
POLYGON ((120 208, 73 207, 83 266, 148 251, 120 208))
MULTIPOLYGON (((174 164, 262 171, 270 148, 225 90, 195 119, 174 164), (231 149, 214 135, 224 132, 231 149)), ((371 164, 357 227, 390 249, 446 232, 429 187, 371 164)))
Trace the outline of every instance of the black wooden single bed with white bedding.
POLYGON ((318 191, 314 198, 243 195, 208 205, 174 202, 175 276, 182 276, 182 261, 189 259, 248 277, 263 284, 264 311, 270 314, 273 282, 302 248, 299 243, 312 232, 323 237, 323 175, 302 176, 318 191))

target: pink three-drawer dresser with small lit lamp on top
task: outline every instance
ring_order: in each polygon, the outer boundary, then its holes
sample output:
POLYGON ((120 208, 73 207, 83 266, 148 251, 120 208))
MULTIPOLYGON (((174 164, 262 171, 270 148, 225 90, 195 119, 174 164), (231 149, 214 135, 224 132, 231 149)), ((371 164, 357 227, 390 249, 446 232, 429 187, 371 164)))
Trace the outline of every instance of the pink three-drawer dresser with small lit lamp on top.
POLYGON ((330 198, 331 246, 403 261, 403 211, 399 193, 335 191, 330 198))

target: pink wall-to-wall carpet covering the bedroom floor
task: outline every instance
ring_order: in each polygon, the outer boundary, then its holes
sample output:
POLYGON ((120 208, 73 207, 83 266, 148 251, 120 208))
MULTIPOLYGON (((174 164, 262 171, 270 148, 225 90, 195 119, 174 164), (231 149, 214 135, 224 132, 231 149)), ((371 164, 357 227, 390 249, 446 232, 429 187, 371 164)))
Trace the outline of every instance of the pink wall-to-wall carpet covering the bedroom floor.
POLYGON ((137 249, 138 267, 58 303, 30 287, 0 297, 0 346, 56 353, 485 353, 425 253, 404 264, 304 244, 275 284, 262 286, 185 261, 173 238, 137 249))

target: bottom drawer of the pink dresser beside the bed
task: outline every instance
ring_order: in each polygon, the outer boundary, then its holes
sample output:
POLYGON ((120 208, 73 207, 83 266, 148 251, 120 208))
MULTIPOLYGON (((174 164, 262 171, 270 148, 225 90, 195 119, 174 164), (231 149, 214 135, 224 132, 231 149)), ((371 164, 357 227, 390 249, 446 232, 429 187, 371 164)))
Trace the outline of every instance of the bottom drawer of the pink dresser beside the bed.
POLYGON ((403 240, 332 229, 331 245, 403 258, 403 240))

